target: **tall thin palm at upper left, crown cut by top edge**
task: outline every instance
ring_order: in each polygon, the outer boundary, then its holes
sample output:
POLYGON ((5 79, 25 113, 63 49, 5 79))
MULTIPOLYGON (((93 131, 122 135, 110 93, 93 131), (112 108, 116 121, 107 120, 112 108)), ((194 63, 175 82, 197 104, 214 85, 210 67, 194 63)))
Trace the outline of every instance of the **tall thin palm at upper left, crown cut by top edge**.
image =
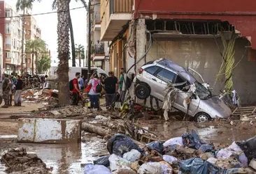
MULTIPOLYGON (((23 67, 23 64, 24 64, 24 15, 25 15, 25 11, 28 10, 28 9, 31 9, 32 6, 33 6, 33 2, 35 0, 17 0, 16 2, 16 10, 17 11, 22 11, 23 13, 23 17, 22 17, 22 60, 21 60, 21 68, 22 68, 22 73, 23 73, 23 70, 24 70, 24 67, 23 67)), ((40 1, 40 0, 38 0, 40 1)), ((26 63, 26 68, 27 68, 27 63, 26 63)))

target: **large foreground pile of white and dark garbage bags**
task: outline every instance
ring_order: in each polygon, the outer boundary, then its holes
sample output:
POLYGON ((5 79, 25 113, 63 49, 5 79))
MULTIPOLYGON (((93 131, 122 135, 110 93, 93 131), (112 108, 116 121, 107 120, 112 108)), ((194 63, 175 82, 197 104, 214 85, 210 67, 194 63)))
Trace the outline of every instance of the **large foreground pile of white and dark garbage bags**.
POLYGON ((140 148, 124 134, 108 140, 110 155, 86 164, 84 173, 256 173, 256 136, 217 149, 196 131, 140 148))

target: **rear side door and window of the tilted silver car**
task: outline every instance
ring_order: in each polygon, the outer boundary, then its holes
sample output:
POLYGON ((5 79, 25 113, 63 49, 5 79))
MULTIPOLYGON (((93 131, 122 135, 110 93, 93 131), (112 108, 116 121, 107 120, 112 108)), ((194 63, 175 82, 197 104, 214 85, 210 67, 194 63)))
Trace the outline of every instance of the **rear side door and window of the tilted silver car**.
POLYGON ((157 88, 155 89, 155 97, 159 100, 164 101, 168 84, 172 84, 176 74, 171 70, 159 68, 155 73, 155 79, 158 82, 157 88))

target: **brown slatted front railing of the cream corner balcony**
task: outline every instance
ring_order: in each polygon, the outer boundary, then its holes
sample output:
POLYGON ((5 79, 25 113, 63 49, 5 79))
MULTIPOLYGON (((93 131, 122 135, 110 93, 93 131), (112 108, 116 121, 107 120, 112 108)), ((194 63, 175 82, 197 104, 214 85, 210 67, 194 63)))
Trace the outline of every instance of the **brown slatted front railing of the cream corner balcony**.
POLYGON ((131 13, 134 0, 110 0, 111 14, 131 13))

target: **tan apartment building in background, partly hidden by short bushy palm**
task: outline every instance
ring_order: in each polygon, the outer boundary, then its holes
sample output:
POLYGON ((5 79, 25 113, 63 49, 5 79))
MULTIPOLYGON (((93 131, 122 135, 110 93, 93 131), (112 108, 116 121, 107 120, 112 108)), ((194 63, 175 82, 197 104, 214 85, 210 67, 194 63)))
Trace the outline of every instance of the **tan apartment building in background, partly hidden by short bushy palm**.
MULTIPOLYGON (((24 29, 25 29, 25 34, 24 38, 25 40, 34 40, 41 38, 41 29, 38 27, 36 24, 36 19, 33 16, 25 16, 24 17, 24 29)), ((24 54, 24 69, 26 72, 31 73, 31 68, 32 68, 32 55, 25 52, 24 54)), ((34 62, 34 67, 35 62, 34 62)))

